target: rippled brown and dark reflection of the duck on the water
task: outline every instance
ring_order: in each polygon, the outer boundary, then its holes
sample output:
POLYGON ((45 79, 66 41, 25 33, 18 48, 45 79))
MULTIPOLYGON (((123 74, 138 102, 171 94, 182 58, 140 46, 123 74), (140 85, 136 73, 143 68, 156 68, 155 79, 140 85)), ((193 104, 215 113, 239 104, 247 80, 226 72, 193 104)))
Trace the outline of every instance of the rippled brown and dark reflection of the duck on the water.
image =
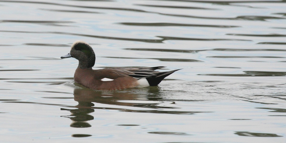
POLYGON ((62 117, 67 117, 73 121, 70 125, 71 127, 87 128, 91 127, 91 125, 86 121, 94 119, 90 113, 94 112, 95 109, 176 115, 208 113, 208 111, 179 111, 179 107, 172 106, 176 104, 175 101, 177 99, 172 99, 170 95, 163 95, 163 93, 160 87, 135 88, 120 91, 95 91, 86 87, 75 88, 74 100, 78 102, 78 105, 74 107, 78 109, 61 109, 72 113, 69 116, 62 117), (138 107, 138 110, 134 110, 134 108, 129 109, 129 107, 138 107))

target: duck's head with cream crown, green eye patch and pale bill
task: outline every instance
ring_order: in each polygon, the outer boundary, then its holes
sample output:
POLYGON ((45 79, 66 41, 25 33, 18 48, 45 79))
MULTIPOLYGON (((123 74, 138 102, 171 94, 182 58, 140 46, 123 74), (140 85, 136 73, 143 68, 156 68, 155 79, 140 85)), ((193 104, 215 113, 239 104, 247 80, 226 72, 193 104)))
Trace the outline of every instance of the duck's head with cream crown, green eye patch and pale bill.
POLYGON ((78 63, 78 68, 86 69, 94 66, 95 54, 92 47, 84 41, 76 41, 72 44, 71 51, 61 58, 76 58, 78 63))

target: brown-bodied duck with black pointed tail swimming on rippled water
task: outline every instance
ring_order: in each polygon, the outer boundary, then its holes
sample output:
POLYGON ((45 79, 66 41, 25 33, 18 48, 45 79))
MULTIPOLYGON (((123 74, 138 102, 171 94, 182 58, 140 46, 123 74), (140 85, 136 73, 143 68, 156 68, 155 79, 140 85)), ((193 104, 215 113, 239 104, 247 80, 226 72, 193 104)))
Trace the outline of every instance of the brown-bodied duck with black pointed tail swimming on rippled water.
POLYGON ((160 67, 115 67, 93 70, 95 54, 92 47, 84 41, 72 44, 69 54, 61 58, 76 58, 78 68, 74 73, 74 81, 94 90, 119 90, 132 87, 147 87, 158 85, 166 76, 177 70, 154 71, 160 67), (104 81, 109 79, 109 81, 104 81))

